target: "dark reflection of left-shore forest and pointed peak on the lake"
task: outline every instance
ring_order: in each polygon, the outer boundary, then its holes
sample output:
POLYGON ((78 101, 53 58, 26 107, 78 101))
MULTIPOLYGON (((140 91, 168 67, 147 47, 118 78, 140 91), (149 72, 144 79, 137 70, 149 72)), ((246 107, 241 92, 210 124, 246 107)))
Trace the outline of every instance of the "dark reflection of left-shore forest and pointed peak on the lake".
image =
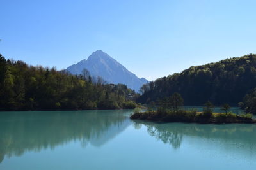
POLYGON ((72 140, 102 146, 131 124, 128 111, 38 111, 0 114, 0 162, 4 155, 54 148, 72 140))

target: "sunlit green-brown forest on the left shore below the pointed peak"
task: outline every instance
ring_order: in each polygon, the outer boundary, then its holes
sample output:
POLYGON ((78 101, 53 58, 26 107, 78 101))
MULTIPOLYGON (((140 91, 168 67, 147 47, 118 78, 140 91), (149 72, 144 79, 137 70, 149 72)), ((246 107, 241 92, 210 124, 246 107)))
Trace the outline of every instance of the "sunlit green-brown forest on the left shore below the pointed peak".
POLYGON ((0 54, 0 111, 135 108, 137 96, 126 85, 93 81, 88 73, 74 76, 0 54))

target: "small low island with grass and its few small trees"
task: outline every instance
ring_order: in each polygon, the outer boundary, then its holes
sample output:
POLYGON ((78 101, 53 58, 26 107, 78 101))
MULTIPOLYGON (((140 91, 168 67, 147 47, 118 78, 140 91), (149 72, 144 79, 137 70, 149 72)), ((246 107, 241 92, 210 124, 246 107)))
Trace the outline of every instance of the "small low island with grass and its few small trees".
POLYGON ((159 102, 157 110, 149 107, 147 111, 141 112, 134 110, 131 119, 149 120, 154 122, 184 122, 184 123, 199 123, 199 124, 230 124, 244 123, 254 124, 256 120, 252 118, 252 114, 246 113, 236 115, 229 112, 230 106, 223 104, 221 106, 225 113, 213 113, 213 104, 208 101, 205 103, 204 111, 184 110, 181 108, 183 99, 178 93, 173 96, 163 99, 159 102))

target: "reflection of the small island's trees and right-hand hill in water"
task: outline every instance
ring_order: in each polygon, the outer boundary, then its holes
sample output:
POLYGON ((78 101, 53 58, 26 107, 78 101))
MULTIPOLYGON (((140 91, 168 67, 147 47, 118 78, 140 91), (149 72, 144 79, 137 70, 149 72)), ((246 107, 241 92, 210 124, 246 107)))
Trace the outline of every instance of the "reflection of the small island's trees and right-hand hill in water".
MULTIPOLYGON (((243 145, 243 150, 256 152, 256 125, 254 124, 156 124, 134 120, 134 127, 142 125, 147 127, 148 134, 168 143, 173 148, 179 148, 184 136, 195 138, 206 138, 211 141, 218 141, 222 146, 228 146, 232 150, 233 144, 243 145)), ((241 148, 240 148, 241 149, 241 148)))

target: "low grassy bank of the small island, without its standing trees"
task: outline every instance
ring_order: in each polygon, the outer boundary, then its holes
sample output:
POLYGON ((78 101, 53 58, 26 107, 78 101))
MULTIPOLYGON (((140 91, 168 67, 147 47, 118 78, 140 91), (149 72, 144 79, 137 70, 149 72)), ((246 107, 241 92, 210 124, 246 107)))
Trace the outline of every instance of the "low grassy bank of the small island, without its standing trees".
POLYGON ((227 113, 212 113, 212 111, 204 110, 198 112, 196 110, 168 110, 158 108, 157 111, 148 110, 140 112, 134 110, 131 119, 152 120, 157 122, 198 122, 198 123, 255 123, 252 119, 252 114, 236 115, 232 112, 227 113))

